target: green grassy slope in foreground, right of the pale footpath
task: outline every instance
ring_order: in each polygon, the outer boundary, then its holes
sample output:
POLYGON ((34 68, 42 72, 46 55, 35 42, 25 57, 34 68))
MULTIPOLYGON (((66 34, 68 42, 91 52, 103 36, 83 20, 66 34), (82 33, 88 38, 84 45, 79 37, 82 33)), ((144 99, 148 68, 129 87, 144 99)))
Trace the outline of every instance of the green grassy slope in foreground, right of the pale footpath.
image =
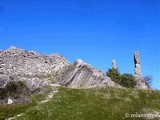
POLYGON ((51 101, 26 108, 17 120, 129 120, 125 113, 155 111, 160 112, 160 91, 59 88, 51 101))

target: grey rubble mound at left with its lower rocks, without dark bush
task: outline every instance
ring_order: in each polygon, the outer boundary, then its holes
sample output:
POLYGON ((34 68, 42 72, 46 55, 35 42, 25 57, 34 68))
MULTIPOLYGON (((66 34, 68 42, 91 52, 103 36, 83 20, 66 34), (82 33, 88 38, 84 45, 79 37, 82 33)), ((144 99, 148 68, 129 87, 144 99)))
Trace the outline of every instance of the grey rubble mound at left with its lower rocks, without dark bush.
POLYGON ((58 54, 42 55, 16 47, 1 50, 0 88, 4 88, 11 81, 22 81, 30 92, 42 91, 50 85, 48 77, 58 74, 68 65, 70 63, 58 54))

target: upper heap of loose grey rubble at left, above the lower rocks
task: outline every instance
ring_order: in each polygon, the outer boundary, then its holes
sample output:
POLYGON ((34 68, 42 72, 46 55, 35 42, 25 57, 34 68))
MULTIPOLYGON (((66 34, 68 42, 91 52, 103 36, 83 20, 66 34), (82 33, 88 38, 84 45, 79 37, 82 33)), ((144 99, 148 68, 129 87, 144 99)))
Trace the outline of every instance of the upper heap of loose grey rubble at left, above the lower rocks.
POLYGON ((60 71, 69 62, 62 56, 42 55, 11 47, 0 53, 0 73, 13 76, 42 77, 60 71))

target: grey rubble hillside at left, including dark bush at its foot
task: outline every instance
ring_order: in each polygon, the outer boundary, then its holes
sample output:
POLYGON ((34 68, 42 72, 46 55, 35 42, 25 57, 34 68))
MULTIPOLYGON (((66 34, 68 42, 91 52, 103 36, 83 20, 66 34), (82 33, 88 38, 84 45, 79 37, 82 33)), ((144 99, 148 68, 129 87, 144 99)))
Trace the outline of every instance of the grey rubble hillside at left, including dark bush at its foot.
POLYGON ((68 65, 68 60, 58 54, 43 55, 16 47, 1 50, 0 104, 30 101, 30 95, 43 92, 52 83, 49 78, 68 65))

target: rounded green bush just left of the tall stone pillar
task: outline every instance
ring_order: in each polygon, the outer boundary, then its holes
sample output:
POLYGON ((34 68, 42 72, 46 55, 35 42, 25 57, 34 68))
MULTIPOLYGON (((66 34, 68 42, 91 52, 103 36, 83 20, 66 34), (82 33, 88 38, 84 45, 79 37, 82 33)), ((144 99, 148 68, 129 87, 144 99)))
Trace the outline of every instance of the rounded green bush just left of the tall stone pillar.
POLYGON ((127 88, 133 88, 136 86, 136 80, 132 74, 123 74, 121 75, 121 83, 120 85, 127 87, 127 88))

